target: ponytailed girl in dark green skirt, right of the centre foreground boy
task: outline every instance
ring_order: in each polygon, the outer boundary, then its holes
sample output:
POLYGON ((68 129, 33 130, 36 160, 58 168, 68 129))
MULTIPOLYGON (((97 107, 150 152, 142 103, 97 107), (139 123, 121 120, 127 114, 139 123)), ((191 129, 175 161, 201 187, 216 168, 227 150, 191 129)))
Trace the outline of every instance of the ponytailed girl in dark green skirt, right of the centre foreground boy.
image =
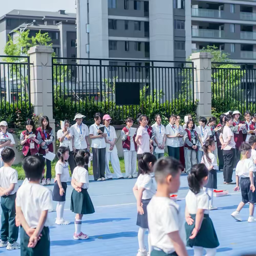
POLYGON ((220 245, 211 218, 209 217, 209 195, 203 187, 208 182, 209 171, 204 164, 196 164, 188 175, 189 191, 186 196, 187 246, 193 247, 196 256, 214 256, 220 245))

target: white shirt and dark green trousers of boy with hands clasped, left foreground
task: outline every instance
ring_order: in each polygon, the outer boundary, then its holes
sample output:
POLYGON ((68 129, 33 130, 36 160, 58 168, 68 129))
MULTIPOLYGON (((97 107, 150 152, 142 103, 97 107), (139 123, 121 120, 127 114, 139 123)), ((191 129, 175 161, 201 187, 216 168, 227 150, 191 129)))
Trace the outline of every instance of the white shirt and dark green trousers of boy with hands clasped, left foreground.
MULTIPOLYGON (((52 209, 51 191, 40 184, 26 183, 22 185, 16 198, 16 205, 21 211, 30 228, 36 228, 43 211, 52 209)), ((50 256, 49 215, 44 223, 41 238, 34 248, 28 248, 29 236, 21 227, 20 251, 22 256, 50 256)))

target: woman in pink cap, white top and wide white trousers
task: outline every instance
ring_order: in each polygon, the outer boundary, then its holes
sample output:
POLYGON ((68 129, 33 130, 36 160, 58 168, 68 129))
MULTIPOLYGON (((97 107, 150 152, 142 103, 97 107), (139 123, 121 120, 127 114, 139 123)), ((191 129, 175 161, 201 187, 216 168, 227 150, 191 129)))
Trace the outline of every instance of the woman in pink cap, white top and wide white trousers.
POLYGON ((103 116, 103 122, 105 125, 105 132, 107 133, 107 137, 105 138, 106 140, 106 155, 105 155, 105 162, 106 162, 106 167, 105 167, 105 172, 106 172, 106 179, 113 179, 113 175, 109 170, 109 161, 111 162, 111 165, 114 169, 114 173, 116 174, 117 179, 123 179, 123 175, 121 173, 121 168, 120 168, 120 162, 119 162, 119 157, 117 154, 117 148, 116 148, 116 131, 115 128, 110 124, 111 122, 111 117, 109 115, 104 115, 103 116))

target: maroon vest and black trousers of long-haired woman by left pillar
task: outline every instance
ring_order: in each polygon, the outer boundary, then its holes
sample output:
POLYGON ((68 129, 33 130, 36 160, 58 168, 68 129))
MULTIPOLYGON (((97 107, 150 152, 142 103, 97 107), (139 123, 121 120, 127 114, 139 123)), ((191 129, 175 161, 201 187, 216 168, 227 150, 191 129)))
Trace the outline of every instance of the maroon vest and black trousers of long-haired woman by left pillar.
MULTIPOLYGON (((53 142, 54 142, 54 135, 53 130, 51 127, 49 128, 49 131, 46 132, 42 129, 42 127, 38 127, 37 131, 40 133, 42 140, 46 143, 47 148, 49 149, 49 152, 53 152, 53 142)), ((42 157, 46 155, 45 149, 42 147, 39 148, 38 154, 42 157)), ((46 179, 52 178, 52 166, 51 161, 46 159, 46 179)))

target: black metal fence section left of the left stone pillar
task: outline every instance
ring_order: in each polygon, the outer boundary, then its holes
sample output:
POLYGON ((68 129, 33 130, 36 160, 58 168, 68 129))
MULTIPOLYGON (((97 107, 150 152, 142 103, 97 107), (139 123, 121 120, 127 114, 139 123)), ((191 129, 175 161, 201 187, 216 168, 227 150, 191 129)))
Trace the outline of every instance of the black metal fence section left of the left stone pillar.
POLYGON ((0 117, 8 123, 14 122, 18 109, 24 116, 31 111, 29 66, 27 56, 0 55, 0 117))

